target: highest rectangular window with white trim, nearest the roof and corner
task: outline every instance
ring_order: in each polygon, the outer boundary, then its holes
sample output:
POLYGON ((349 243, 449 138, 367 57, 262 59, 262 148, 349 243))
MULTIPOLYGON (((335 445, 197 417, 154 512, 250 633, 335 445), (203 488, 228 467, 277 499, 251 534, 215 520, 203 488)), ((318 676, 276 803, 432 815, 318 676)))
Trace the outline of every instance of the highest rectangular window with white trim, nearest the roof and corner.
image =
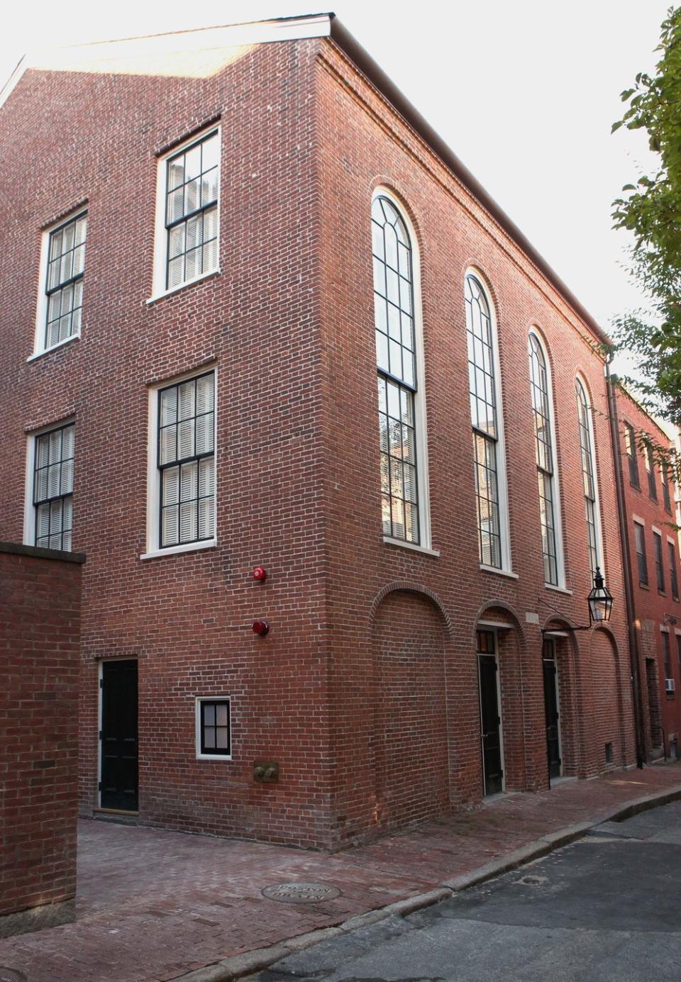
POLYGON ((159 160, 154 296, 218 268, 220 131, 159 160))

